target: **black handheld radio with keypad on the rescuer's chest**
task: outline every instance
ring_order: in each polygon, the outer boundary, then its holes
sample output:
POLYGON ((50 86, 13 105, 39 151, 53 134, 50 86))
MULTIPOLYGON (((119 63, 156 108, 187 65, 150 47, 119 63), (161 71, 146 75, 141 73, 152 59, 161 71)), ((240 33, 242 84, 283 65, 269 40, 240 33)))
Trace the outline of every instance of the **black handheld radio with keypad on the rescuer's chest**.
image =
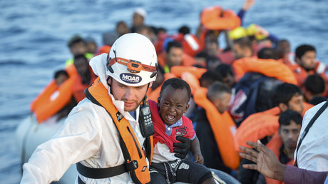
POLYGON ((143 103, 140 104, 139 116, 140 131, 144 138, 153 136, 155 133, 153 121, 151 121, 150 107, 148 105, 147 96, 143 98, 143 103))

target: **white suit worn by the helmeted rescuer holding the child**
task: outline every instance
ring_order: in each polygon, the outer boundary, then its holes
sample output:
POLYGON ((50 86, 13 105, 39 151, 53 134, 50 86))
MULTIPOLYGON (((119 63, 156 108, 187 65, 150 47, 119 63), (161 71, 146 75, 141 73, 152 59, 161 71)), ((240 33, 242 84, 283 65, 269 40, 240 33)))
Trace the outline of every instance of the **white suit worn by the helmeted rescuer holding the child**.
MULTIPOLYGON (((135 120, 124 111, 124 102, 115 101, 106 83, 106 57, 103 53, 91 59, 90 65, 103 86, 108 88, 108 98, 112 98, 118 111, 128 120, 140 145, 145 138, 138 124, 139 108, 135 120)), ((63 127, 51 140, 39 145, 25 163, 21 183, 51 183, 61 178, 71 164, 80 162, 90 168, 108 168, 124 163, 119 144, 118 130, 105 108, 87 98, 78 103, 68 115, 63 127)), ((149 163, 148 163, 149 166, 149 163)), ((80 175, 85 183, 133 183, 128 173, 105 179, 90 179, 80 175)), ((77 182, 76 178, 76 183, 77 182)))

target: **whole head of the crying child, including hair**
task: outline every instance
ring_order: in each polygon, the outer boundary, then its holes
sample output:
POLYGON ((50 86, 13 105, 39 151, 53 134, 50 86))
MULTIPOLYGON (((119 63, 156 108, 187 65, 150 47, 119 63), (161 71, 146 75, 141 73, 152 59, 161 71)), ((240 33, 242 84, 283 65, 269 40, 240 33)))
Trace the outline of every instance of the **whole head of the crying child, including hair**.
POLYGON ((188 111, 190 96, 190 86, 183 79, 170 78, 164 81, 160 88, 158 106, 160 118, 167 126, 180 120, 183 113, 188 111))

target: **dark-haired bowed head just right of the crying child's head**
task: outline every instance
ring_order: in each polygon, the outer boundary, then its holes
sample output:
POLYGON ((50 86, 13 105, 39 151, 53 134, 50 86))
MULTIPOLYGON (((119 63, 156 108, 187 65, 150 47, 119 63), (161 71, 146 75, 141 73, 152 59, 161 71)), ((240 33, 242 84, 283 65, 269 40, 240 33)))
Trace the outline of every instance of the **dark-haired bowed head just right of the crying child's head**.
POLYGON ((219 113, 225 113, 230 106, 231 88, 223 83, 213 83, 207 91, 207 99, 213 103, 219 113))

